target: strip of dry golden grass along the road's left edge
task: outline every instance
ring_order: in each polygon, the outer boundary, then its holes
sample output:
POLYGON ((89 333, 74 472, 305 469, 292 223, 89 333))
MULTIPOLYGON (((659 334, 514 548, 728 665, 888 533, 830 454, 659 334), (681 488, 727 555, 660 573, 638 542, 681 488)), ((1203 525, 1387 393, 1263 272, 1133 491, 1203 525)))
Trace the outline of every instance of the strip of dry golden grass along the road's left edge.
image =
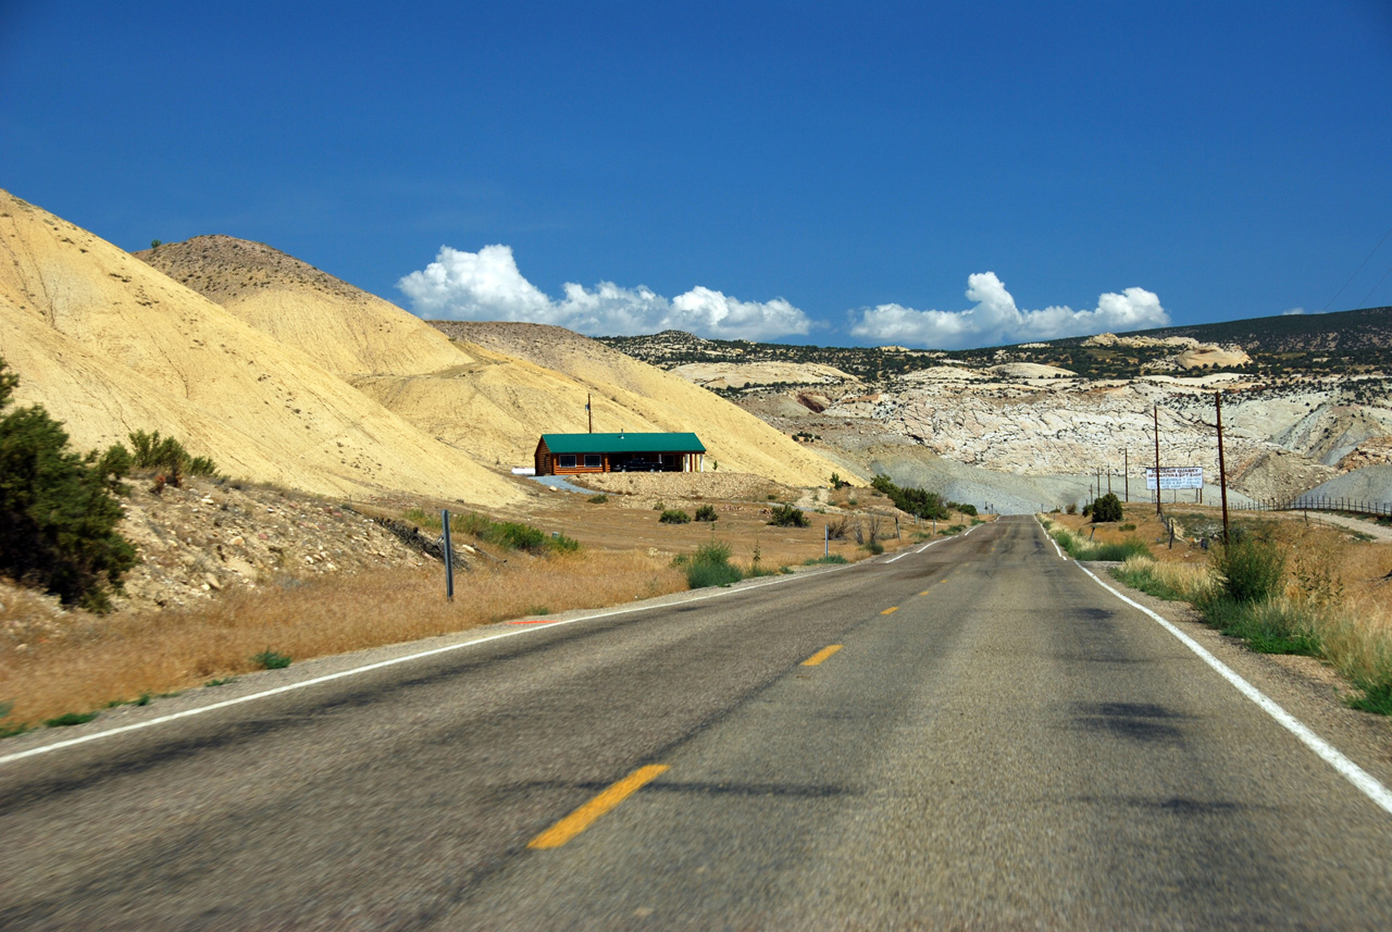
POLYGON ((611 551, 459 573, 454 602, 445 601, 436 566, 292 581, 189 611, 74 613, 61 629, 31 625, 0 637, 0 702, 14 704, 3 725, 202 686, 258 669, 252 657, 264 650, 299 661, 683 588, 685 577, 667 561, 611 551))

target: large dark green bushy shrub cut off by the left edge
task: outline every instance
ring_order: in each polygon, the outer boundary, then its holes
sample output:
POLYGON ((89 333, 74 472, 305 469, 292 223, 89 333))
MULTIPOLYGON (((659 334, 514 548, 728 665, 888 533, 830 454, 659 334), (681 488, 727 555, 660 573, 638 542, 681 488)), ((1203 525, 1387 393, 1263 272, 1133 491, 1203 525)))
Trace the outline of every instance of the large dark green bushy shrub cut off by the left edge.
POLYGON ((116 531, 129 467, 124 448, 97 458, 68 449, 43 408, 6 412, 18 378, 0 359, 0 573, 43 587, 65 605, 102 612, 107 587, 135 566, 135 547, 116 531))

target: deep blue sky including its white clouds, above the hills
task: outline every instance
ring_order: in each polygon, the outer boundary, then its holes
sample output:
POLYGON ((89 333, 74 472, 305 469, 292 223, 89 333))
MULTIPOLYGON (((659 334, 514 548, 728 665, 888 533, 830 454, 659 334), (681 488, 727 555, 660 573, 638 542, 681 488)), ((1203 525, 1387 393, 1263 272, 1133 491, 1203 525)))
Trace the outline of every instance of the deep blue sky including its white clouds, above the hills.
POLYGON ((0 186, 426 317, 955 348, 1392 305, 1389 153, 1389 0, 0 0, 0 186))

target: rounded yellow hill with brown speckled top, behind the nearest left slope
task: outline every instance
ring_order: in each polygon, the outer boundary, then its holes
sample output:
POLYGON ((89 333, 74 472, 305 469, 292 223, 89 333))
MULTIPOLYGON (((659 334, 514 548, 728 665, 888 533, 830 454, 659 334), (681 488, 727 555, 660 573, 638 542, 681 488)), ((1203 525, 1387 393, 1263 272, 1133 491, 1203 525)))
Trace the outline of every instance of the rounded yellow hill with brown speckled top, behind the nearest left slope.
POLYGON ((134 255, 338 376, 470 362, 419 317, 264 243, 193 236, 134 255))

